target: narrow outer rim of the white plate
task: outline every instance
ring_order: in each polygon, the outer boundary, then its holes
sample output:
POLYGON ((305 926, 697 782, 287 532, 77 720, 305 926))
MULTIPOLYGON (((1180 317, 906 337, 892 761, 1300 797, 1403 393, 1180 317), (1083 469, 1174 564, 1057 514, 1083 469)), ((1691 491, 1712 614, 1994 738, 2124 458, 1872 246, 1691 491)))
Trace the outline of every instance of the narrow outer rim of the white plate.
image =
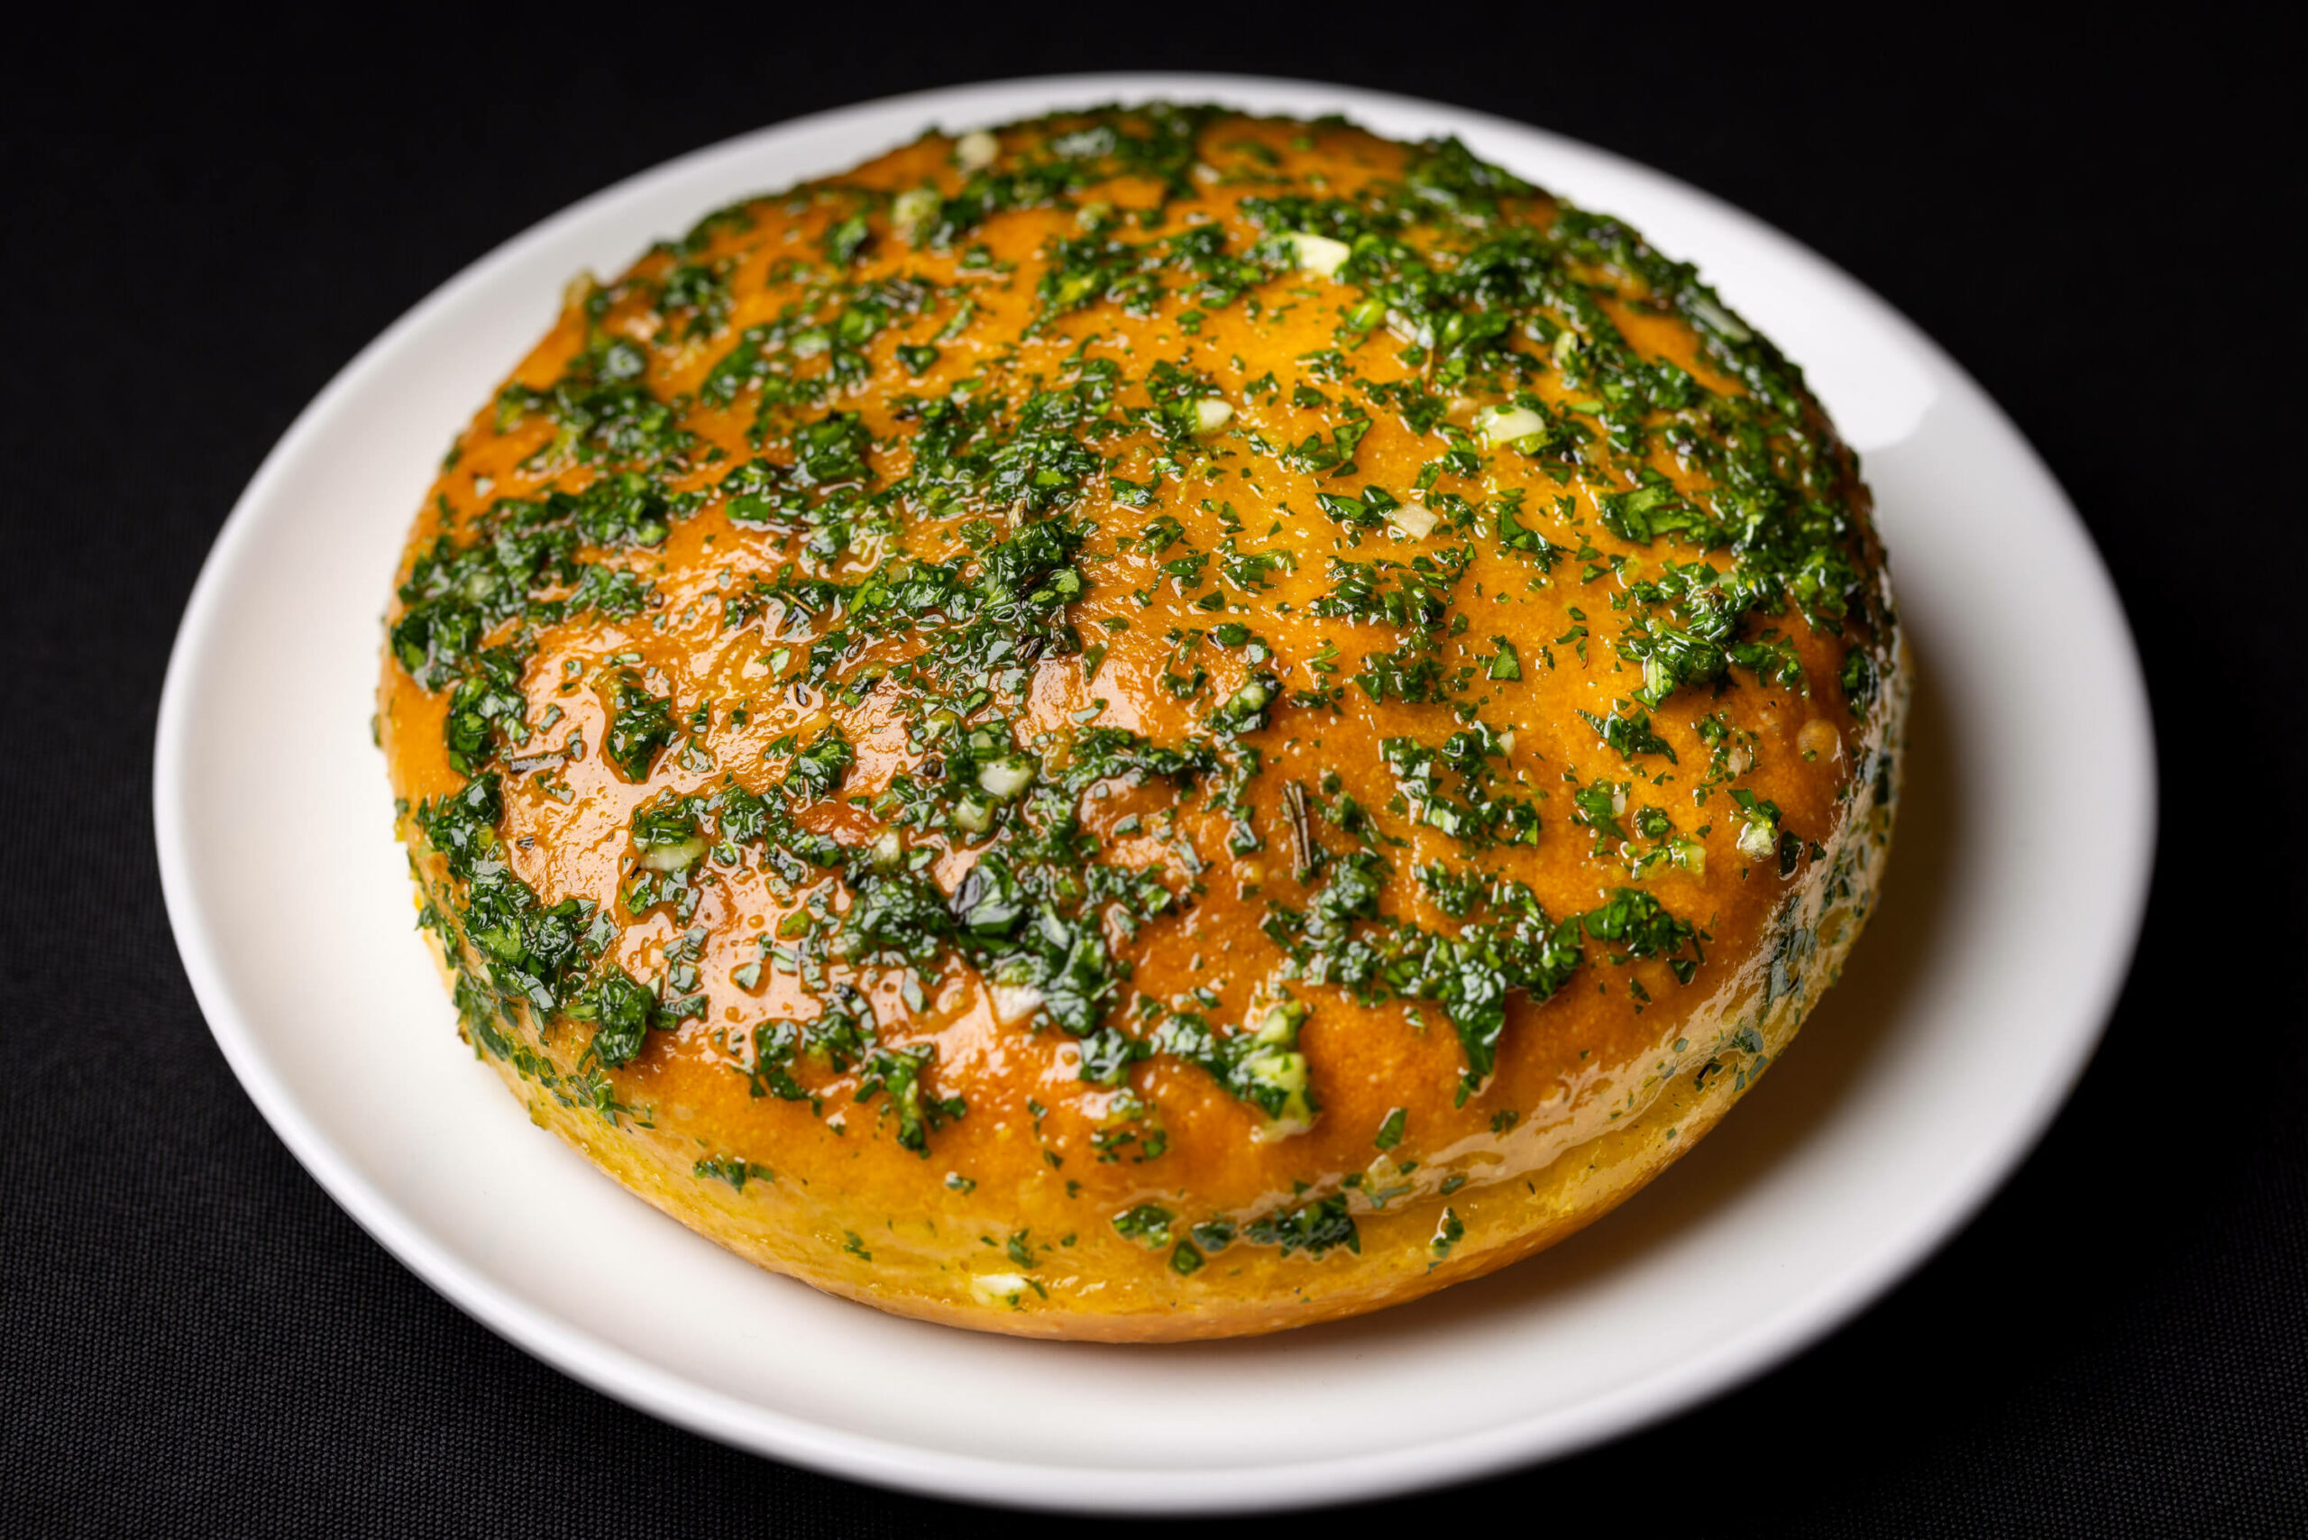
MULTIPOLYGON (((1004 106, 1004 111, 1009 109, 1004 106)), ((173 937, 178 942, 178 954, 185 963, 203 1021, 224 1053, 226 1064, 233 1069, 233 1076, 247 1090, 249 1099, 256 1104, 272 1131, 284 1145, 288 1145, 288 1152, 298 1159, 298 1164, 305 1166, 323 1191, 328 1191, 328 1196, 335 1198, 335 1203, 344 1208, 353 1221, 362 1226, 362 1231, 367 1231, 427 1286, 499 1337, 512 1341, 549 1367, 591 1385, 593 1390, 600 1390, 602 1395, 695 1434, 750 1450, 755 1455, 787 1459, 852 1480, 926 1496, 1071 1512, 1253 1512, 1336 1505, 1419 1487, 1473 1480, 1542 1459, 1558 1459, 1609 1438, 1618 1438, 1648 1422, 1696 1408, 1761 1376, 1803 1348, 1823 1341, 1830 1332, 1839 1330, 1858 1311, 1879 1302, 1890 1288, 1946 1247, 1955 1233, 1969 1224, 1996 1191, 2001 1191, 2026 1154, 2040 1143, 2054 1115, 2068 1101, 2098 1051, 2107 1018, 2114 1011, 2126 979, 2130 977, 2146 914, 2149 877, 2158 843, 2160 767, 2156 762, 2151 723, 2153 709, 2146 693, 2144 670, 2140 665, 2137 637, 2130 630, 2121 598, 2116 596, 2098 545, 2091 540, 2089 526, 2077 515, 2073 499, 2068 499, 2052 469, 2043 462, 2008 413, 2001 411, 1994 397, 1989 397, 1959 362, 1932 342, 1929 335, 1916 328, 1899 309, 1860 284, 1856 277, 1830 263, 1826 256, 1812 252, 1807 245, 1793 240, 1777 226, 1629 157, 1530 122, 1463 109, 1449 102, 1336 85, 1327 81, 1260 74, 1080 72, 972 81, 877 97, 801 118, 787 118, 782 122, 771 122, 718 143, 702 145, 655 166, 646 166, 632 175, 619 178, 616 182, 561 208, 559 212, 547 215, 466 263, 462 270, 432 289, 422 300, 409 307, 342 369, 337 369, 314 399, 307 402, 307 406, 295 416, 291 427, 279 436, 272 450, 268 450, 265 459, 235 499, 233 510, 224 519, 208 556, 203 559, 201 573, 187 598, 185 614, 178 623, 168 653, 168 670, 162 683, 152 748, 152 820, 162 896, 173 937), (930 122, 939 115, 974 120, 972 111, 981 104, 1004 102, 1018 92, 1034 92, 1050 106, 1117 97, 1179 99, 1200 95, 1202 99, 1256 99, 1281 92, 1322 92, 1329 99, 1336 99, 1336 104, 1350 115, 1373 106, 1419 111, 1447 122, 1454 132, 1477 129, 1486 134, 1496 132, 1551 141, 1563 150, 1597 157, 1620 171, 1632 171, 1641 178, 1662 182, 1678 196, 1703 205, 1710 215, 1724 217, 1752 236, 1761 236, 1775 254, 1796 256, 1807 266, 1807 277, 1816 275, 1826 282, 1839 284, 1846 291, 1846 298, 1856 298, 1872 314, 1872 319, 1881 321, 1904 346, 1925 358, 1929 365, 1943 369, 1973 397, 1980 409, 1989 413, 1992 425, 2008 434, 2013 448, 2017 448, 2024 462, 2043 478, 2050 501, 2070 526, 2068 533, 2080 538, 2086 561, 2077 573, 2077 584, 2089 586, 2089 598, 2096 607, 2112 614, 2114 633, 2123 642, 2119 649, 2121 656, 2110 658, 2110 670, 2112 674, 2121 674, 2130 686, 2126 695, 2133 711, 2123 727, 2130 730, 2140 750, 2137 769, 2142 780, 2137 820, 2130 829, 2119 831, 2130 838, 2128 882, 2121 917, 2114 930, 2103 937, 2100 967, 2091 977, 2089 990, 2077 990, 2086 1007, 2080 1018, 2091 1025, 2089 1030, 2077 1032, 2075 1041, 2068 1044, 2066 1062, 2059 1074, 2045 1076, 2038 1094, 2026 1106, 2026 1113, 1999 1131, 1996 1147, 1978 1161, 1978 1175, 1971 1182, 1943 1189, 1934 1212, 1925 1212, 1909 1221, 1902 1231, 1886 1238, 1874 1254, 1860 1258, 1856 1265, 1842 1268, 1833 1274, 1833 1279, 1814 1279, 1809 1288, 1791 1291, 1789 1298, 1800 1300, 1800 1304, 1789 1304, 1756 1328, 1724 1339, 1713 1353, 1696 1360, 1683 1360, 1673 1371, 1657 1371, 1648 1378, 1618 1383, 1611 1390, 1581 1401, 1576 1406, 1576 1427, 1565 1427, 1565 1422, 1572 1422, 1572 1411, 1558 1408, 1500 1422, 1477 1436, 1459 1434, 1447 1441, 1431 1438, 1399 1450, 1387 1450, 1382 1455, 1228 1466, 1219 1471, 1200 1471, 1193 1480, 1186 1480, 1175 1471, 1032 1464, 1022 1459, 992 1459, 953 1450, 930 1450, 896 1438, 826 1427, 762 1404, 739 1401, 720 1390, 688 1381, 679 1371, 662 1369, 646 1358, 612 1346, 584 1328, 554 1316, 547 1307, 533 1304, 517 1291, 499 1286, 489 1277, 480 1274, 455 1256, 443 1242, 439 1242, 413 1214, 404 1212, 392 1198, 388 1198, 353 1164, 353 1159, 330 1141, 325 1129, 298 1101, 284 1074, 265 1057, 256 1034, 238 1011, 238 1002, 233 1000, 224 977, 226 970, 222 965, 217 926, 194 898, 192 857, 187 845, 187 815, 192 810, 187 790, 189 695, 196 688, 194 679, 198 660, 208 649, 208 637, 219 623, 219 607, 224 603, 228 575, 245 559, 249 543, 256 540, 258 508, 268 501, 275 483, 288 473, 288 466, 302 455, 307 441, 323 432, 325 423, 337 413, 339 402, 358 393, 358 388, 372 374, 381 372, 392 356, 422 337, 434 319, 455 305, 464 291, 489 282, 496 270, 522 261, 533 247, 556 240, 570 226, 589 222, 607 205, 639 192, 644 185, 672 180, 711 159, 752 150, 764 139, 803 139, 810 132, 838 127, 842 120, 875 113, 912 109, 921 122, 930 122)))

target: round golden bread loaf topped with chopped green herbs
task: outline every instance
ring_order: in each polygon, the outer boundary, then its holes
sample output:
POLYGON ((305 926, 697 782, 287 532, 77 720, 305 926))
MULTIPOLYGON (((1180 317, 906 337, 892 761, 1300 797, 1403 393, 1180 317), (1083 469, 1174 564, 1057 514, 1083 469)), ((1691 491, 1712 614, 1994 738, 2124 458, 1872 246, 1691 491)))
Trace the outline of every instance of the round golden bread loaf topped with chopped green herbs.
POLYGON ((1526 1256, 1793 1037, 1890 836, 1853 455, 1456 141, 930 134, 579 279, 379 734, 464 1034, 882 1309, 1267 1332, 1526 1256))

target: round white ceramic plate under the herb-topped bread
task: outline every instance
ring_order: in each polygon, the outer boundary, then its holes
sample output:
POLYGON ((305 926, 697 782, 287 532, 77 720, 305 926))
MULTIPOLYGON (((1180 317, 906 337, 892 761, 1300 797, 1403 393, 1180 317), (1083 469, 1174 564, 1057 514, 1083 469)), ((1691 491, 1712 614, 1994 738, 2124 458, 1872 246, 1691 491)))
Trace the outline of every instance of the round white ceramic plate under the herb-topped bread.
POLYGON ((224 1055, 395 1256, 577 1378, 711 1438, 946 1496, 1343 1501, 1560 1455, 1814 1341, 2043 1131, 2130 958, 2153 750, 2084 529, 1996 406, 1846 275, 1706 194, 1498 118, 1332 85, 1073 76, 803 118, 612 187, 402 316, 298 418, 201 573, 159 713, 159 864, 224 1055), (579 268, 930 122, 1110 99, 1329 113, 1479 155, 1694 259, 1865 457, 1920 660, 1883 907, 1798 1048, 1572 1242, 1362 1321, 1166 1348, 896 1321, 720 1251, 533 1129, 411 933, 369 746, 379 612, 443 446, 579 268))

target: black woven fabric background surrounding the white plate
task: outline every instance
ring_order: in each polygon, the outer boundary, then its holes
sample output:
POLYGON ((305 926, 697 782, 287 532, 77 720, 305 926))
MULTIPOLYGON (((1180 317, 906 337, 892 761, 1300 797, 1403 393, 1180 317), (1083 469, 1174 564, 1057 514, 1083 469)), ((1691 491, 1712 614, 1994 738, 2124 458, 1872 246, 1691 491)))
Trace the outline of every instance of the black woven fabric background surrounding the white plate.
MULTIPOLYGON (((805 111, 1214 67, 1526 118, 1683 175, 1872 284, 2075 496, 2140 633, 2163 748, 2140 965, 2075 1101, 1976 1224, 1761 1383, 1371 1517, 2308 1533, 2303 305, 2280 240, 2303 136, 2278 14, 2181 7, 2128 30, 2100 9, 2022 35, 2006 14, 1911 7, 1853 37, 1749 7, 833 12, 473 7, 166 32, 90 14, 0 46, 0 1528, 1055 1522, 662 1427, 367 1240, 194 1009, 155 877, 152 718, 194 573, 263 453, 499 240, 805 111)), ((282 840, 293 859, 295 831, 282 840)))

